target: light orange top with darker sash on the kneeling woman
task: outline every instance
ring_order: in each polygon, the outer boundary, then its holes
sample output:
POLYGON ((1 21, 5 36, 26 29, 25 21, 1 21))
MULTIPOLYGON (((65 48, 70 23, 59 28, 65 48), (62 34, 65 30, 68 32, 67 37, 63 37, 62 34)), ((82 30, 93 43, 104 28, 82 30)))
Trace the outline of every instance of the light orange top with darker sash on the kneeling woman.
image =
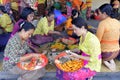
POLYGON ((106 18, 99 23, 96 36, 101 42, 102 52, 119 50, 120 22, 106 18))

